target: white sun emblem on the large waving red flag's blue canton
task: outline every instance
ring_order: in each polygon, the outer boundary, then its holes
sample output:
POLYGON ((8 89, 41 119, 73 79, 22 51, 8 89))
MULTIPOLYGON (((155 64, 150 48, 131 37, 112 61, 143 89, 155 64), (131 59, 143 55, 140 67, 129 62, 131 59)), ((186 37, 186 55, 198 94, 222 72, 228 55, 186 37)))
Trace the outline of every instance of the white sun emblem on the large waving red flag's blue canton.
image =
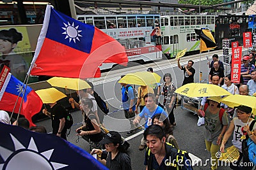
POLYGON ((79 34, 79 32, 82 32, 82 31, 78 30, 79 25, 77 25, 77 26, 75 27, 74 22, 73 22, 72 25, 70 25, 69 22, 68 22, 68 24, 65 24, 65 23, 63 22, 63 24, 65 25, 65 27, 62 27, 62 29, 64 29, 65 32, 62 32, 62 34, 66 34, 65 39, 69 38, 69 42, 70 42, 71 40, 73 40, 74 43, 76 43, 76 39, 77 39, 78 41, 80 41, 79 37, 82 37, 82 36, 79 34))

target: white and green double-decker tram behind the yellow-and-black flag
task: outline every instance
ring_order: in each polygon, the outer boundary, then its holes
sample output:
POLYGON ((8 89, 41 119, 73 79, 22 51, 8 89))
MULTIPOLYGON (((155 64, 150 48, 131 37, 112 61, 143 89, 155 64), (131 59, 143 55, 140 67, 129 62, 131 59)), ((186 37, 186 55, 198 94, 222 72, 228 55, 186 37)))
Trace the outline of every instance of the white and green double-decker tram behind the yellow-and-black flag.
POLYGON ((172 58, 180 50, 187 48, 187 53, 199 50, 200 39, 195 29, 214 31, 214 15, 167 15, 161 16, 162 50, 172 58))

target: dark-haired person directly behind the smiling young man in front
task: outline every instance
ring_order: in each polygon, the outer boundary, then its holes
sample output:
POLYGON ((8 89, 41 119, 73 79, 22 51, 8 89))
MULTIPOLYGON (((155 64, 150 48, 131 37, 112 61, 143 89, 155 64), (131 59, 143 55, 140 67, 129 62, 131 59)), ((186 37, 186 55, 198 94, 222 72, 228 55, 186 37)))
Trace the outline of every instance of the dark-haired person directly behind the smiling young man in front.
POLYGON ((164 133, 166 134, 166 142, 172 144, 177 150, 179 150, 178 143, 173 136, 173 129, 170 127, 168 118, 164 117, 164 115, 157 114, 152 118, 152 122, 154 125, 159 125, 164 129, 164 133))

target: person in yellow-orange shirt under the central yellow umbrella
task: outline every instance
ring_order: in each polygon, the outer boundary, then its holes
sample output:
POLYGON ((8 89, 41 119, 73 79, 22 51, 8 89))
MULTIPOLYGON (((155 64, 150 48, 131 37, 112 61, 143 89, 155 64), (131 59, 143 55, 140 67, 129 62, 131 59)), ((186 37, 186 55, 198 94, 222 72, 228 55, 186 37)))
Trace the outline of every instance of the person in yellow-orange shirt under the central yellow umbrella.
POLYGON ((143 108, 145 107, 145 101, 144 101, 144 96, 148 93, 152 93, 154 94, 154 90, 152 89, 152 87, 149 87, 148 85, 141 85, 140 87, 138 87, 138 101, 136 104, 136 108, 135 108, 135 113, 138 114, 138 107, 140 106, 140 111, 143 110, 143 108))

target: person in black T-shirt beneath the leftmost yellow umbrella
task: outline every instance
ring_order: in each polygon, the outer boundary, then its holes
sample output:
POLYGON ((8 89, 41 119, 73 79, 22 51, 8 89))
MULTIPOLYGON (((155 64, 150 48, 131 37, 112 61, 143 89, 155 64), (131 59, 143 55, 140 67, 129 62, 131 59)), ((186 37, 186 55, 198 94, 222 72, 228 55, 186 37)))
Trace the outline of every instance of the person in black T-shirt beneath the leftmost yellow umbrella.
POLYGON ((51 112, 45 108, 43 113, 52 120, 52 134, 59 136, 67 140, 67 128, 65 127, 65 117, 67 117, 67 111, 63 106, 58 103, 47 103, 50 106, 51 112))

